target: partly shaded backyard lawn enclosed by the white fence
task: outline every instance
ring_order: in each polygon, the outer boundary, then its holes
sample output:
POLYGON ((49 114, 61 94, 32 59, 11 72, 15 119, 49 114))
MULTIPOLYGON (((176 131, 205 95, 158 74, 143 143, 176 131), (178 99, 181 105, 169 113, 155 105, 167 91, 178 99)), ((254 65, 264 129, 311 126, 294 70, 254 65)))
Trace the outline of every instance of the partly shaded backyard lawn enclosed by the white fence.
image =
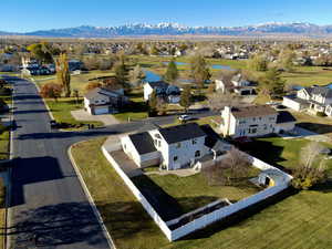
MULTIPOLYGON (((248 178, 255 177, 259 170, 252 168, 248 178)), ((242 198, 253 195, 259 189, 242 179, 236 186, 209 186, 203 174, 196 174, 187 177, 175 175, 148 175, 137 176, 133 181, 138 188, 153 189, 155 196, 159 196, 158 203, 162 206, 175 204, 179 215, 193 211, 219 198, 228 198, 230 201, 238 201, 242 198), (164 198, 166 197, 166 198, 164 198), (169 203, 170 204, 169 204, 169 203)))

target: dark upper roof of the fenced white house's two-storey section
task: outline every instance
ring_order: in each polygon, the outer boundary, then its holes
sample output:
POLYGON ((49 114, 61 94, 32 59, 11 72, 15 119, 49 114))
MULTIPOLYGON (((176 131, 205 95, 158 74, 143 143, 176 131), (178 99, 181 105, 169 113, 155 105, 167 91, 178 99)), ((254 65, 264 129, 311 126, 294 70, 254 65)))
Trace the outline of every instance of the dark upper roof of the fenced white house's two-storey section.
POLYGON ((206 133, 196 123, 188 123, 183 125, 170 126, 167 128, 159 128, 159 133, 168 144, 206 136, 206 133))

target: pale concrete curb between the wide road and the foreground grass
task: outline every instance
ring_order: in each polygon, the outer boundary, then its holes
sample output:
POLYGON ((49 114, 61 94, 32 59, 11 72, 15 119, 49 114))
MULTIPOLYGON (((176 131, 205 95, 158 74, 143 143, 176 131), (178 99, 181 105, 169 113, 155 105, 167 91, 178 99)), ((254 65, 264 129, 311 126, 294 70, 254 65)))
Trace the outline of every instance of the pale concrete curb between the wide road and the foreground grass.
POLYGON ((71 163, 72 163, 72 165, 73 165, 73 168, 74 168, 74 170, 75 170, 75 173, 76 173, 76 175, 77 175, 77 177, 79 177, 79 180, 80 180, 81 186, 82 186, 82 188, 83 188, 83 191, 84 191, 84 194, 85 194, 85 196, 86 196, 86 198, 87 198, 87 200, 89 200, 89 203, 90 203, 90 206, 92 207, 92 210, 93 210, 95 217, 97 218, 97 220, 98 220, 98 222, 100 222, 100 225, 101 225, 101 227, 102 227, 102 229, 103 229, 103 232, 104 232, 104 235, 105 235, 105 237, 106 237, 106 239, 107 239, 107 242, 108 242, 110 248, 116 249, 115 243, 114 243, 114 241, 113 241, 113 239, 112 239, 112 237, 111 237, 111 235, 110 235, 110 232, 108 232, 108 230, 107 230, 107 228, 106 228, 106 226, 105 226, 105 224, 104 224, 104 221, 103 221, 103 218, 102 218, 102 216, 101 216, 101 214, 100 214, 97 207, 96 207, 95 204, 94 204, 94 199, 92 198, 92 196, 91 196, 91 194, 90 194, 90 191, 89 191, 89 188, 87 188, 87 186, 85 185, 85 181, 84 181, 84 179, 83 179, 83 177, 82 177, 82 175, 81 175, 81 170, 80 170, 79 166, 76 165, 75 159, 74 159, 74 157, 73 157, 73 155, 72 155, 72 147, 73 147, 74 145, 77 145, 77 144, 83 143, 83 142, 85 142, 85 141, 81 141, 81 142, 75 143, 75 144, 72 144, 72 145, 69 147, 69 149, 68 149, 68 156, 69 156, 69 158, 70 158, 70 160, 71 160, 71 163))

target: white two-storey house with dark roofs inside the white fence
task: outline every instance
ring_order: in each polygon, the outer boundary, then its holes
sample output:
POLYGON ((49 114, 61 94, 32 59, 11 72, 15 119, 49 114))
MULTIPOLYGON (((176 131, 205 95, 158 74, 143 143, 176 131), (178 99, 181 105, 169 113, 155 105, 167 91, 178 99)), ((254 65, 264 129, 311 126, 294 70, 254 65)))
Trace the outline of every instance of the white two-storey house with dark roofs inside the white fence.
POLYGON ((123 151, 138 167, 162 165, 163 169, 173 170, 229 149, 211 131, 209 126, 189 123, 127 135, 121 142, 123 151))

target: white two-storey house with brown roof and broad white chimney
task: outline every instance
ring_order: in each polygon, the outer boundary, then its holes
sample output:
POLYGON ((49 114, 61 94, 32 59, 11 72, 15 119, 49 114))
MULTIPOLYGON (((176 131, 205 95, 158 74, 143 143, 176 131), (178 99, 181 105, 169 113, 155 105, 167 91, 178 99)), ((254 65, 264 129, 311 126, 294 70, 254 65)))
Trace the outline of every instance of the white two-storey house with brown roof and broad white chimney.
POLYGON ((277 112, 268 105, 226 106, 221 112, 220 131, 224 136, 255 137, 289 132, 294 125, 295 118, 290 113, 277 112))

